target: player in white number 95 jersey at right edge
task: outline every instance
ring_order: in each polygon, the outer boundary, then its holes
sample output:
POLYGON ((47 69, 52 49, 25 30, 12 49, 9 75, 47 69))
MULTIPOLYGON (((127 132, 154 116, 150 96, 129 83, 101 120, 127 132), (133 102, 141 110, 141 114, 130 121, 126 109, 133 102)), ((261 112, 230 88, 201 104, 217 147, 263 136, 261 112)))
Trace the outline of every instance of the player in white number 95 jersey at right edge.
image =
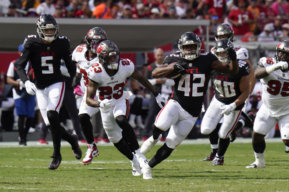
POLYGON ((281 138, 289 146, 289 41, 276 47, 275 58, 262 57, 258 61, 255 77, 263 84, 263 104, 256 114, 252 145, 255 162, 246 168, 265 168, 264 137, 278 122, 281 138))

